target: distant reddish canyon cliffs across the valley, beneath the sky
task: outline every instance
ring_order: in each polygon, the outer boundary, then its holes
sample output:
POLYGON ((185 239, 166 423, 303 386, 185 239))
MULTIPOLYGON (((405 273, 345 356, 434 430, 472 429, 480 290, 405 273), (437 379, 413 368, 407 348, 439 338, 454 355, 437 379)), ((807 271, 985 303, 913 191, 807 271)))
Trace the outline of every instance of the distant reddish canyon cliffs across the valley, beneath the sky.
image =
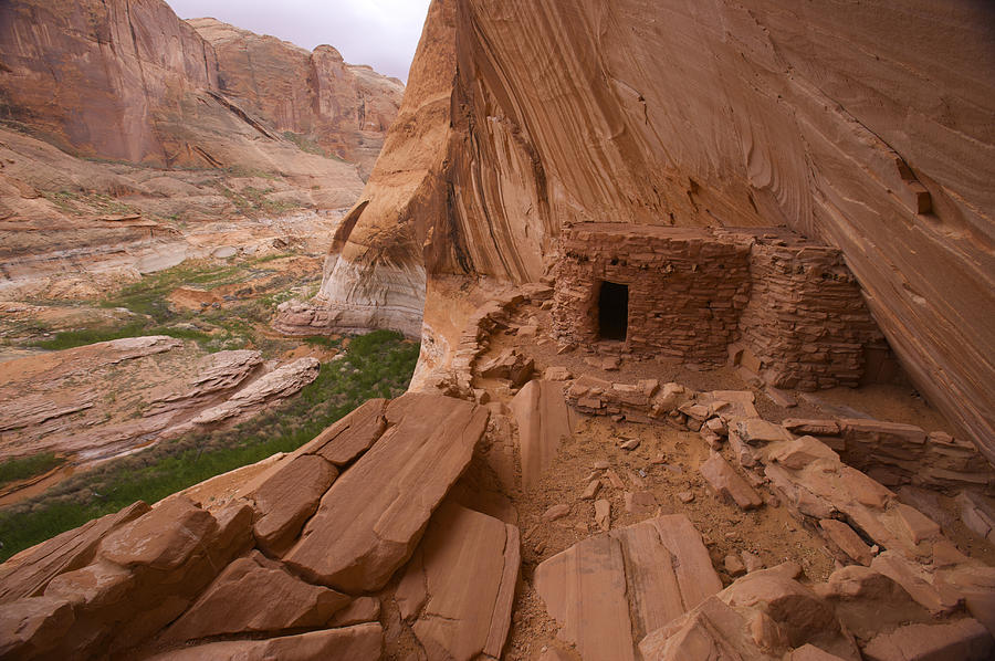
POLYGON ((191 24, 161 0, 0 4, 0 119, 75 156, 365 176, 402 90, 331 46, 191 24))

